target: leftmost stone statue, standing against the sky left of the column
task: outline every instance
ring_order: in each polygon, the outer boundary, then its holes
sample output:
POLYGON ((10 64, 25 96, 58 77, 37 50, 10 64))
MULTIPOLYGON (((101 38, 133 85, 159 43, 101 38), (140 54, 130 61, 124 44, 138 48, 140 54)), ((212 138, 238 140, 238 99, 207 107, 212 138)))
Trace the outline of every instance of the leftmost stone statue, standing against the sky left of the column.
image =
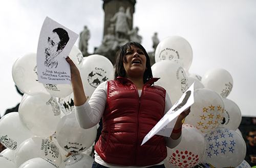
POLYGON ((80 33, 80 41, 79 41, 79 50, 82 52, 84 57, 88 56, 88 40, 90 39, 91 34, 88 30, 87 26, 84 26, 84 30, 80 33))

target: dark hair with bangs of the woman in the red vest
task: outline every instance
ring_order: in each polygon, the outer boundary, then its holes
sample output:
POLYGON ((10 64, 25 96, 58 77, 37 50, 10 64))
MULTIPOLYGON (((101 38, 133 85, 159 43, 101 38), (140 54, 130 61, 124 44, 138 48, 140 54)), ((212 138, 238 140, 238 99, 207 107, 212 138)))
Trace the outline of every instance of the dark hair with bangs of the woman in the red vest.
POLYGON ((131 45, 135 47, 139 47, 143 51, 144 55, 146 56, 146 70, 144 71, 144 75, 143 75, 143 82, 146 83, 148 80, 153 78, 151 64, 150 64, 150 57, 148 56, 144 47, 140 43, 135 41, 127 42, 126 44, 120 46, 120 49, 117 51, 115 78, 117 77, 125 78, 125 70, 123 67, 123 62, 127 62, 125 58, 125 53, 127 49, 131 49, 131 45))

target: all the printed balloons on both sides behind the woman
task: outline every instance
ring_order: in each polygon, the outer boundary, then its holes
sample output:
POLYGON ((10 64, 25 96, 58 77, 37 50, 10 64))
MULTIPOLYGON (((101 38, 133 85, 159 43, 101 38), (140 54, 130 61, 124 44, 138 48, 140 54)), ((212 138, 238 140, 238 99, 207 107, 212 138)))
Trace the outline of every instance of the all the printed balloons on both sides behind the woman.
MULTIPOLYGON (((73 46, 69 57, 80 70, 87 98, 104 81, 114 80, 114 67, 101 55, 83 57, 73 46)), ((183 121, 182 141, 168 149, 166 167, 249 167, 246 146, 238 127, 239 107, 227 99, 233 80, 223 68, 209 69, 204 76, 189 73, 193 51, 180 36, 163 39, 152 65, 156 85, 166 89, 174 104, 195 82, 195 103, 183 121)), ((13 64, 12 77, 22 90, 17 112, 0 120, 2 167, 91 167, 97 128, 81 129, 74 115, 69 84, 41 84, 37 78, 36 53, 26 53, 13 64), (70 156, 69 156, 70 155, 70 156)))

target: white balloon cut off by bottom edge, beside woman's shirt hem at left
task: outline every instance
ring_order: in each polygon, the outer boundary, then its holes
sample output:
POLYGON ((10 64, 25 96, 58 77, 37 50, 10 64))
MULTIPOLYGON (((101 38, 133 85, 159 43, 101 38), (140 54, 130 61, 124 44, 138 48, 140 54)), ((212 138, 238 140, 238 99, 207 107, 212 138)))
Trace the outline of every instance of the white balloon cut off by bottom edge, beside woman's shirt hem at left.
POLYGON ((73 154, 67 159, 63 160, 60 164, 59 168, 91 168, 93 165, 94 159, 92 156, 86 154, 73 154))

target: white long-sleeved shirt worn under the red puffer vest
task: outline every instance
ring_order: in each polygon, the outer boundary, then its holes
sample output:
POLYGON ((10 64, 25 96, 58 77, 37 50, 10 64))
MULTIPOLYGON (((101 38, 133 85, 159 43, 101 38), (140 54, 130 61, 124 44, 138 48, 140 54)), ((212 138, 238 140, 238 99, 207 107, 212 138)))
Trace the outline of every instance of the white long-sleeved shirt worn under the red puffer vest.
MULTIPOLYGON (((102 117, 105 109, 106 104, 106 97, 107 97, 107 87, 108 83, 103 82, 101 83, 93 92, 91 99, 89 101, 86 101, 81 106, 75 106, 75 113, 77 122, 80 125, 81 128, 89 129, 91 127, 94 127, 97 125, 100 121, 100 118, 102 117)), ((141 90, 138 90, 139 96, 141 95, 141 90)), ((170 101, 169 95, 166 92, 165 96, 165 111, 164 114, 172 107, 172 102, 170 101)), ((181 141, 182 136, 180 138, 174 140, 171 137, 165 137, 166 146, 168 148, 175 148, 177 145, 179 145, 181 141)), ((142 168, 143 166, 120 166, 120 165, 113 165, 104 162, 99 155, 95 151, 95 161, 101 165, 107 166, 107 167, 113 167, 113 168, 142 168)), ((163 164, 163 161, 156 164, 160 165, 163 164)), ((144 166, 148 167, 148 166, 144 166)))

